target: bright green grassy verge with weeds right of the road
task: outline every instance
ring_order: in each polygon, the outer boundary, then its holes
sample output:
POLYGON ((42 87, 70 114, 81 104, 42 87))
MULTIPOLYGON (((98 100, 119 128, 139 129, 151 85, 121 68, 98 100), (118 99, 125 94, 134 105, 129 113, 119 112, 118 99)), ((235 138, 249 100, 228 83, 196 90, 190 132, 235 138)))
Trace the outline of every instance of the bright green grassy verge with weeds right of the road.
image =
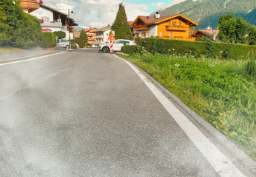
POLYGON ((256 160, 256 80, 246 73, 247 60, 119 56, 144 69, 256 160))

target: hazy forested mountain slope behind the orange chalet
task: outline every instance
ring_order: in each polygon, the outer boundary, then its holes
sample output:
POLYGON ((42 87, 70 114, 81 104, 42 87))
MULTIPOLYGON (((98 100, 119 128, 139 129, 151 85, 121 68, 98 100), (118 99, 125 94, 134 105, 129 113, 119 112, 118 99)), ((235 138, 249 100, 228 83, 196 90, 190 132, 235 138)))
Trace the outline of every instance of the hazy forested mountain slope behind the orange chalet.
POLYGON ((209 25, 216 27, 220 16, 228 13, 241 15, 250 24, 255 24, 255 9, 255 0, 186 0, 158 12, 161 15, 181 13, 201 24, 197 29, 205 29, 209 25))

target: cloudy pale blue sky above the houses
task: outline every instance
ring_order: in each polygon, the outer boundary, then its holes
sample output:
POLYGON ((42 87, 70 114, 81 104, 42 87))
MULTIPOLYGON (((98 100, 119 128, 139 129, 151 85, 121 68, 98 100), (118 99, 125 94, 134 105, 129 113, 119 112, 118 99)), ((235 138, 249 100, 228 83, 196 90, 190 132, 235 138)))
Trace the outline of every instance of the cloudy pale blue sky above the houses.
POLYGON ((175 0, 44 0, 44 5, 67 13, 75 10, 70 17, 79 27, 106 27, 112 25, 118 12, 118 4, 124 2, 128 21, 134 21, 138 15, 149 15, 159 7, 172 4, 175 0))

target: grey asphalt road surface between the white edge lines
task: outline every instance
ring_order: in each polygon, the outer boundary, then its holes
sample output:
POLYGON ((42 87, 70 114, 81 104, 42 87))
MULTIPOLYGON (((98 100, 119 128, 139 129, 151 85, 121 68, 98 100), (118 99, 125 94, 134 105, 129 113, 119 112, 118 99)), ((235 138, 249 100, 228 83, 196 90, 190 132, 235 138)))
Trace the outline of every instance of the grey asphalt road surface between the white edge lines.
POLYGON ((113 55, 64 52, 0 75, 0 176, 221 176, 113 55))

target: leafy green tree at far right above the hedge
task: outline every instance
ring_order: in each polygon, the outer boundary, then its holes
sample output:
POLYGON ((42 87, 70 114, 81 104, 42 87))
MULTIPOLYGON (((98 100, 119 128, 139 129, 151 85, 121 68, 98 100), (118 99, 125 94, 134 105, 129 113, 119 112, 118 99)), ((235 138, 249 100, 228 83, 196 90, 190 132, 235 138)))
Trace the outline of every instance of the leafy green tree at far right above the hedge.
POLYGON ((254 27, 251 27, 251 25, 240 16, 236 19, 233 14, 222 15, 218 21, 218 27, 220 30, 218 38, 223 42, 235 42, 235 44, 254 44, 256 42, 253 41, 256 33, 249 32, 253 30, 254 27), (248 36, 246 37, 246 35, 248 36))

